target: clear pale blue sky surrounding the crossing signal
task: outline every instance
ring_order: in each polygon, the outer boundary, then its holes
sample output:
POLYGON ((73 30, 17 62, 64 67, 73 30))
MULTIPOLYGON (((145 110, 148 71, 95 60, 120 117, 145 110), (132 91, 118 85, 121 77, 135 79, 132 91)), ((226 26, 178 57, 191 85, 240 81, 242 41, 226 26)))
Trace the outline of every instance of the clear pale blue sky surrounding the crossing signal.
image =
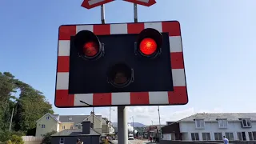
MULTIPOLYGON (((82 0, 0 1, 0 71, 10 71, 41 90, 54 105, 58 26, 100 23, 100 7, 82 0)), ((162 106, 162 122, 195 112, 256 112, 256 1, 157 0, 138 6, 138 21, 178 20, 189 103, 162 106)), ((133 4, 106 4, 106 22, 133 22, 133 4)), ((114 108, 116 109, 116 108, 114 108)), ((57 114, 89 114, 91 108, 57 109, 57 114)), ((116 111, 112 120, 116 121, 116 111)), ((157 107, 129 107, 135 122, 157 122, 157 107), (149 118, 150 117, 150 118, 149 118)), ((108 116, 108 108, 96 108, 108 116)))

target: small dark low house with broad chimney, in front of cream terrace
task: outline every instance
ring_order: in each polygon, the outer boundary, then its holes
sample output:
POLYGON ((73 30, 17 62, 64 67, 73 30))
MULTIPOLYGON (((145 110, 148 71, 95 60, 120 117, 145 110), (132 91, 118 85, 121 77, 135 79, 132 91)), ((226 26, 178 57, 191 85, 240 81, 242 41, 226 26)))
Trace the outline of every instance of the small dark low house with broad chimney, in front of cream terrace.
POLYGON ((62 130, 51 135, 52 144, 75 143, 79 138, 83 143, 99 144, 101 134, 92 129, 90 121, 82 122, 82 129, 62 130))

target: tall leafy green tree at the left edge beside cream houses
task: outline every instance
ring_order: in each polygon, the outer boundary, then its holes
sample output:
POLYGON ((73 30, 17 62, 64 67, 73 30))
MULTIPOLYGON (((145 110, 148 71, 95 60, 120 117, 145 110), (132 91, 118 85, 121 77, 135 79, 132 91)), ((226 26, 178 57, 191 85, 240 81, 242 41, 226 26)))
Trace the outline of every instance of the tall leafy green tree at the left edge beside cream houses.
POLYGON ((36 127, 36 121, 44 114, 54 114, 52 106, 46 101, 42 92, 22 82, 9 72, 0 72, 0 138, 1 130, 10 126, 10 116, 14 109, 12 130, 31 130, 36 127), (13 94, 20 91, 17 98, 13 94))

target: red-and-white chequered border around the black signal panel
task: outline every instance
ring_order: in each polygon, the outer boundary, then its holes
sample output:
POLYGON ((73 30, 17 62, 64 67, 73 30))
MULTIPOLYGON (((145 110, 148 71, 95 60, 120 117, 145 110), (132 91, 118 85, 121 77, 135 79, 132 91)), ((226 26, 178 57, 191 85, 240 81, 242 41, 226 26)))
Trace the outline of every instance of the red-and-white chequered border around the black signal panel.
POLYGON ((96 25, 66 25, 59 27, 58 66, 56 76, 55 106, 80 107, 90 106, 149 106, 149 105, 183 105, 188 102, 186 76, 183 62, 182 38, 180 24, 168 22, 138 22, 96 25), (146 28, 169 33, 170 62, 174 91, 165 92, 125 92, 103 94, 68 94, 70 71, 70 36, 81 30, 90 30, 96 35, 139 34, 146 28))

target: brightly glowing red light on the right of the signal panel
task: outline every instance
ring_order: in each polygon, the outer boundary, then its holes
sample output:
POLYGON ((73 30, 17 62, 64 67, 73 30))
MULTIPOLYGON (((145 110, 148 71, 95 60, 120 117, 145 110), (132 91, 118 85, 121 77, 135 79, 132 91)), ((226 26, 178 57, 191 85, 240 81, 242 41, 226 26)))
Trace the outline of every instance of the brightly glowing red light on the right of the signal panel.
POLYGON ((139 44, 139 50, 142 54, 151 55, 157 50, 158 45, 152 38, 144 38, 139 44))

